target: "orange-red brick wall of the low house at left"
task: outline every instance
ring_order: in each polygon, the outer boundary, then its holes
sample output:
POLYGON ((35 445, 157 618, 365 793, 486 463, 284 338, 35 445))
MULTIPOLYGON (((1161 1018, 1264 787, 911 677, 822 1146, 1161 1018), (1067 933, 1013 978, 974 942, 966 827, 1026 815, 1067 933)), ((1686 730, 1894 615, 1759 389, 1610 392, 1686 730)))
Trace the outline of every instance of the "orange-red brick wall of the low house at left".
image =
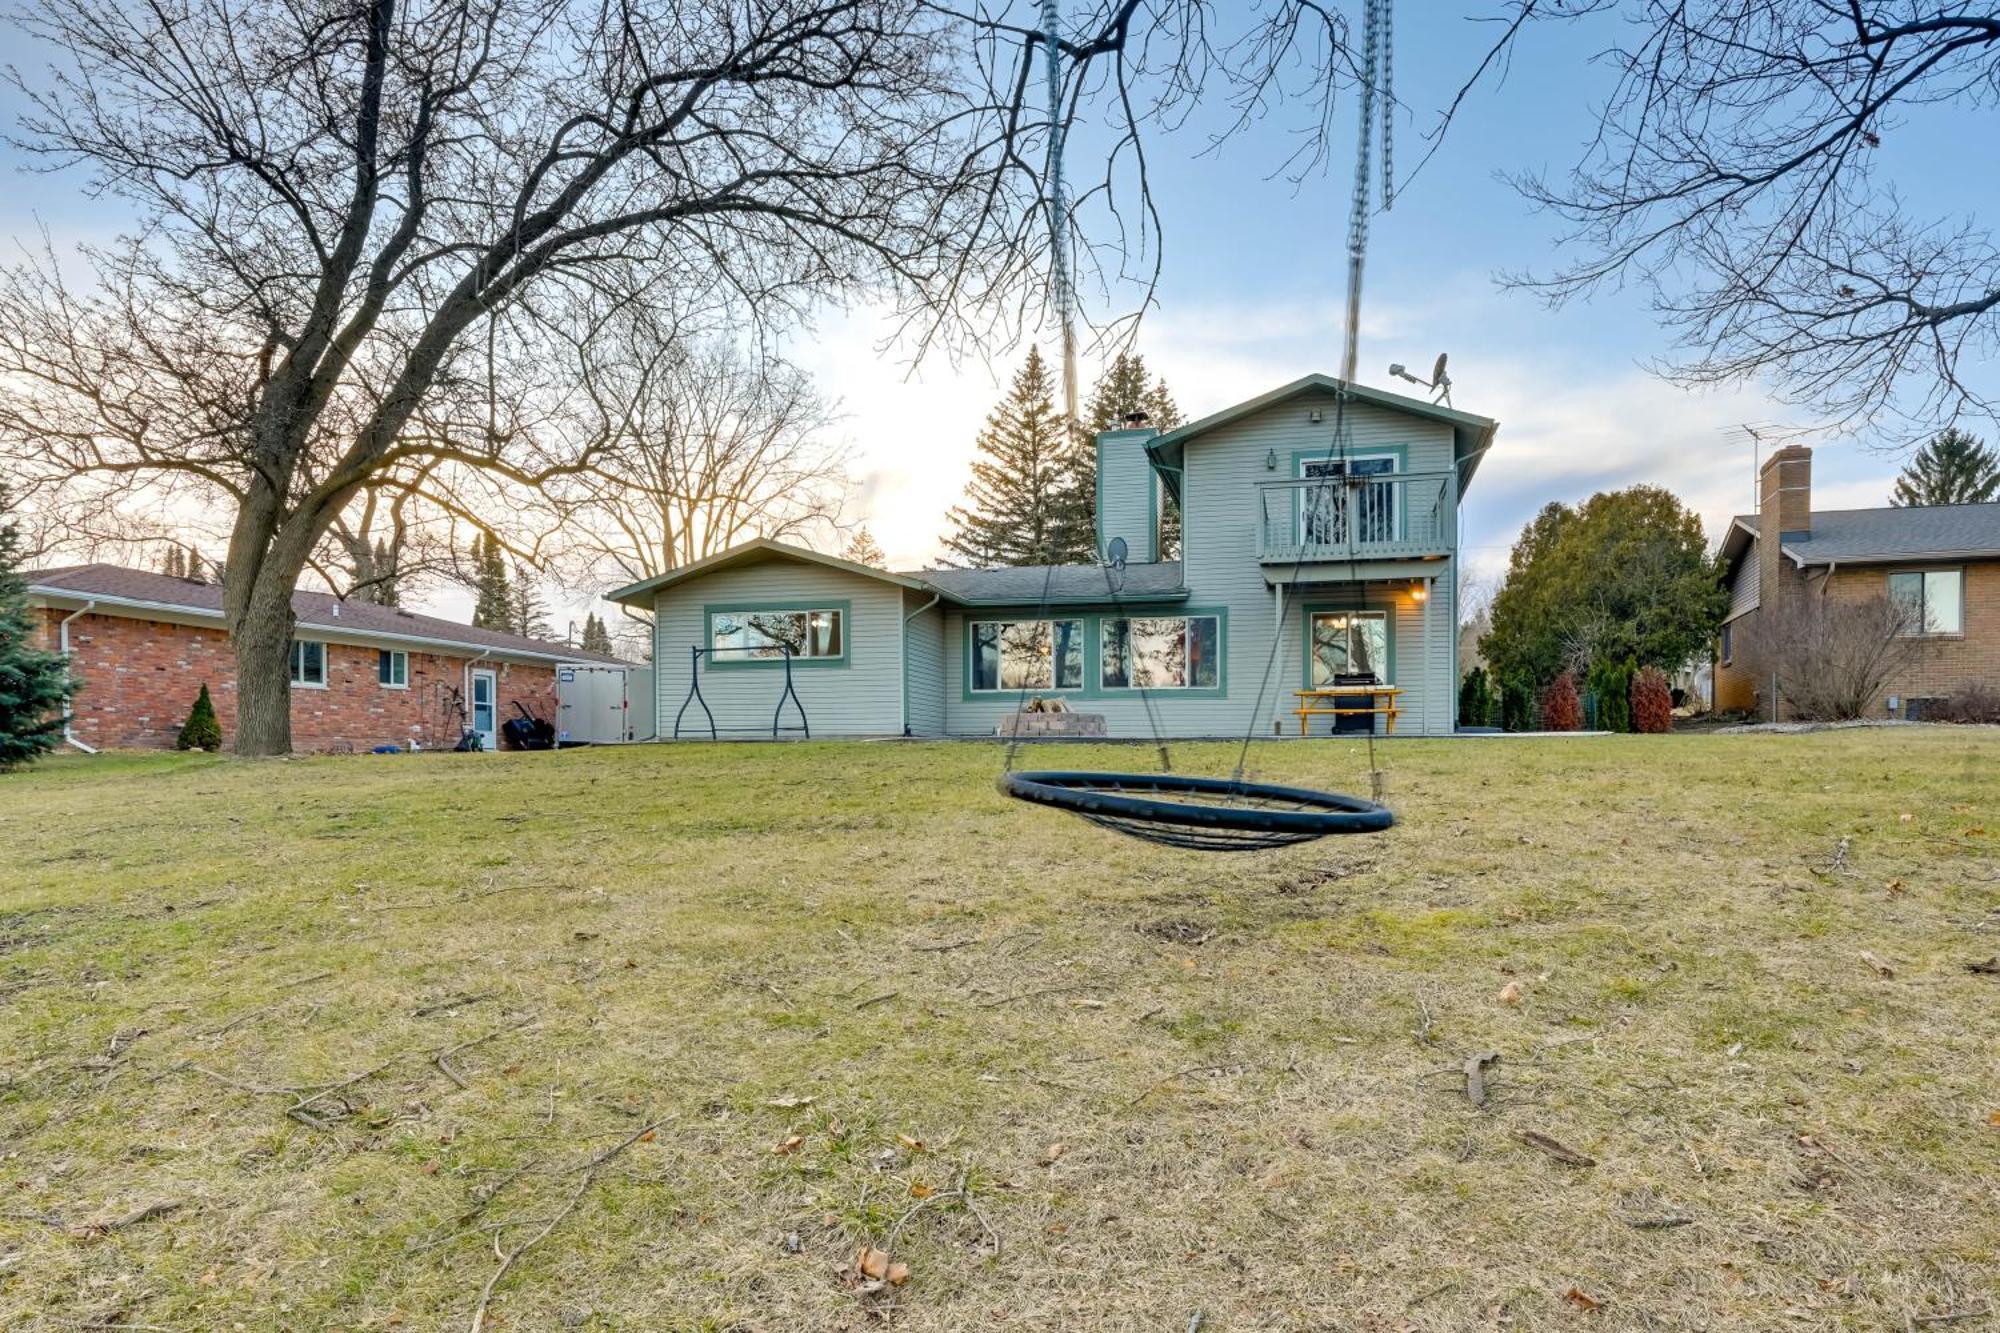
MULTIPOLYGON (((48 646, 66 612, 48 610, 48 646)), ((466 689, 468 654, 410 652, 408 689, 378 681, 376 648, 326 644, 326 689, 292 691, 292 747, 298 751, 370 751, 378 745, 424 749, 458 743, 452 691, 466 689)), ((554 721, 556 669, 522 662, 482 662, 500 683, 498 721, 516 717, 514 701, 554 721)), ((76 737, 98 749, 172 749, 194 697, 208 697, 222 721, 222 743, 236 737, 236 658, 228 636, 198 624, 168 624, 130 616, 86 614, 70 622, 70 669, 76 695, 76 737)))

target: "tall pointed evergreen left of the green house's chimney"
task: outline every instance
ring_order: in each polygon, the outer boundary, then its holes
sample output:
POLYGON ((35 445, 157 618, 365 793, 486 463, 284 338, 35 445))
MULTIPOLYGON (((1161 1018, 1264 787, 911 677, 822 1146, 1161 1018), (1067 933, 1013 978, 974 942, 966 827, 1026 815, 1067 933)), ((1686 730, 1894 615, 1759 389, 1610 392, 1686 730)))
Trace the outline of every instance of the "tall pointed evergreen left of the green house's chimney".
POLYGON ((972 566, 1062 560, 1074 454, 1066 436, 1042 350, 1028 348, 1008 396, 986 416, 982 456, 972 464, 966 502, 952 506, 942 546, 972 566))

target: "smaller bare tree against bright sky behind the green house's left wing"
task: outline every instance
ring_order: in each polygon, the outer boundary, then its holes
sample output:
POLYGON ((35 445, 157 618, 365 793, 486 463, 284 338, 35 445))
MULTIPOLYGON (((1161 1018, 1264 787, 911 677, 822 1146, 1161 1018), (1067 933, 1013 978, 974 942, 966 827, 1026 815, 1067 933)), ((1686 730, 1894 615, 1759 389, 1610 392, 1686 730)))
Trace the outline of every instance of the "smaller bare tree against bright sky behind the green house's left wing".
POLYGON ((618 436, 562 500, 594 574, 638 582, 750 536, 838 532, 846 456, 802 370, 722 342, 624 346, 622 372, 590 382, 618 436))

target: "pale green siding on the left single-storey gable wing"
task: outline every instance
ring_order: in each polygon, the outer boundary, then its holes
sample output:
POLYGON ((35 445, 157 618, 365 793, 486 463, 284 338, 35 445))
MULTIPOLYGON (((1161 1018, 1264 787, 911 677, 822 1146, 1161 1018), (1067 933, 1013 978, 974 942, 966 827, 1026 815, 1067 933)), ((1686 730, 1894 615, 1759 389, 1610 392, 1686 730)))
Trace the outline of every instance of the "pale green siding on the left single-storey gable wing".
MULTIPOLYGON (((878 578, 804 560, 766 560, 718 570, 664 588, 654 600, 654 679, 662 739, 688 699, 688 648, 708 646, 708 606, 828 604, 846 606, 846 664, 792 664, 792 689, 814 737, 902 735, 902 592, 878 578)), ((702 660, 702 699, 722 735, 770 735, 784 691, 780 662, 718 666, 702 660)), ((790 707, 786 725, 796 725, 790 707)), ((680 719, 682 739, 708 735, 700 705, 680 719)), ((796 733, 792 733, 796 735, 796 733)))

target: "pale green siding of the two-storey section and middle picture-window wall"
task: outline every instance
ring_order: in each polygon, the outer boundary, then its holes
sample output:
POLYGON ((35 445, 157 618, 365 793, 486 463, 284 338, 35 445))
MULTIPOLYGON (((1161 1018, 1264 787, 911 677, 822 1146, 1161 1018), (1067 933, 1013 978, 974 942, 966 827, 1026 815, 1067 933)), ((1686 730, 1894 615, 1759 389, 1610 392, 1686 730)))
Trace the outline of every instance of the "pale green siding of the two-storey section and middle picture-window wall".
MULTIPOLYGON (((1246 727, 1258 735, 1298 733, 1298 719, 1290 713, 1296 707, 1294 689, 1304 685, 1304 614, 1306 606, 1344 604, 1374 610, 1394 610, 1396 677, 1402 687, 1402 719, 1398 735, 1444 735, 1452 731, 1452 701, 1456 683, 1452 681, 1452 640, 1456 632, 1456 578, 1454 560, 1434 560, 1420 566, 1400 562, 1398 570, 1418 568, 1436 582, 1426 602, 1410 596, 1408 578, 1394 582, 1366 582, 1368 564, 1360 564, 1364 582, 1348 580, 1348 566, 1308 566, 1306 576, 1324 574, 1318 584, 1286 588, 1284 624, 1274 626, 1276 598, 1258 562, 1258 496, 1256 486, 1264 480, 1286 478, 1292 470, 1292 456, 1300 450, 1326 452, 1332 442, 1334 402, 1330 394, 1308 394, 1276 404, 1254 416, 1230 422, 1198 436, 1186 450, 1184 510, 1186 528, 1182 534, 1184 576, 1188 584, 1186 606, 1190 610, 1224 608, 1228 622, 1224 628, 1224 689, 1220 693, 1178 695, 1176 691, 1154 691, 1152 703, 1164 735, 1172 737, 1234 737, 1246 727), (1320 408, 1322 420, 1308 418, 1312 408, 1320 408), (1264 466, 1266 454, 1278 454, 1278 470, 1264 466), (1272 634, 1278 632, 1278 652, 1272 652, 1272 634), (1264 689, 1264 705, 1252 719, 1250 711, 1270 662, 1270 685, 1264 689)), ((1372 404, 1350 406, 1352 442, 1350 452, 1366 452, 1370 446, 1400 446, 1410 472, 1444 472, 1452 468, 1450 426, 1428 422, 1416 416, 1380 408, 1372 404)), ((1132 506, 1132 496, 1116 498, 1132 506)), ((1138 496, 1144 504, 1144 496, 1138 496)), ((1144 512, 1140 508, 1140 512, 1144 512)), ((1116 512, 1104 526, 1118 530, 1116 512)), ((1456 530, 1456 514, 1452 516, 1456 530)), ((1130 536, 1128 536, 1130 540, 1130 536)), ((1288 576, 1290 568, 1276 570, 1288 576)), ((1154 614, 1174 614, 1176 608, 1152 606, 1154 614)), ((1020 618, 1032 616, 1032 608, 1020 612, 974 610, 952 612, 944 618, 946 648, 946 731, 952 735, 992 735, 1000 721, 1014 709, 1018 693, 982 695, 968 699, 966 660, 966 620, 968 618, 1020 618)), ((1112 614, 1110 604, 1088 608, 1062 608, 1064 616, 1112 614)), ((1086 679, 1086 687, 1088 687, 1086 679)), ((1146 717, 1138 693, 1106 695, 1102 691, 1036 691, 1042 695, 1062 695, 1072 707, 1102 713, 1114 737, 1148 737, 1152 725, 1146 717)), ((1322 723, 1324 727, 1324 723, 1322 723)))

